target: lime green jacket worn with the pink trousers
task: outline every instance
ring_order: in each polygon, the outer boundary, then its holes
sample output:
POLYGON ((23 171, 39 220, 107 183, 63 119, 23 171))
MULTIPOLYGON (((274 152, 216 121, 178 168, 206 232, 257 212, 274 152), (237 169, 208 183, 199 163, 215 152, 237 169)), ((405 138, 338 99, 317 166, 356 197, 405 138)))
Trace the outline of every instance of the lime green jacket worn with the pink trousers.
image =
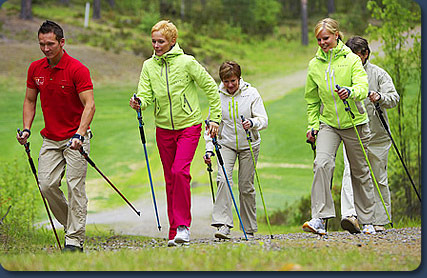
POLYGON ((178 43, 162 56, 154 54, 144 61, 137 96, 142 110, 154 103, 157 127, 179 130, 202 123, 199 91, 208 98, 210 120, 221 122, 215 80, 193 56, 184 54, 178 43))

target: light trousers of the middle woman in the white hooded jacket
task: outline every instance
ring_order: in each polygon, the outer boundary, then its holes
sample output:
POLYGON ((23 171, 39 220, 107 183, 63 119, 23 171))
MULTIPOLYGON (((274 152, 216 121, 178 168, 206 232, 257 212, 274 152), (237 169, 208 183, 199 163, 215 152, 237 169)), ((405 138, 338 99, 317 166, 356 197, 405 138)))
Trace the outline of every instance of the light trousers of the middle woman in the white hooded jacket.
MULTIPOLYGON (((258 160, 260 145, 252 147, 255 157, 255 162, 258 160)), ((235 151, 226 146, 222 146, 221 155, 224 160, 224 168, 227 172, 227 177, 230 186, 233 187, 233 168, 236 159, 239 160, 239 213, 242 218, 245 231, 247 233, 255 233, 258 231, 256 222, 256 192, 254 187, 255 169, 251 156, 250 149, 235 151)), ((233 225, 233 200, 230 190, 224 177, 221 165, 218 162, 218 177, 217 177, 218 192, 213 207, 212 226, 219 227, 233 225)), ((233 191, 234 198, 237 202, 237 196, 233 191)), ((240 227, 242 230, 242 227, 240 227)))

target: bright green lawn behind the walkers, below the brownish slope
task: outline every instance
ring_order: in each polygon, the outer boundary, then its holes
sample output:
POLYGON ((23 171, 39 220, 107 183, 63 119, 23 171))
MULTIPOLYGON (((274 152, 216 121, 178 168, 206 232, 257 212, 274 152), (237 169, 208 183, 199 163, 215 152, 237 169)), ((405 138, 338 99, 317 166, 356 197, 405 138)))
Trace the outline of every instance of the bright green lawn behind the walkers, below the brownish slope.
MULTIPOLYGON (((1 91, 6 95, 4 92, 7 91, 7 88, 2 88, 1 91)), ((141 186, 148 185, 148 176, 136 113, 128 106, 131 94, 132 88, 125 87, 96 90, 97 110, 91 125, 94 137, 91 140, 90 157, 95 161, 97 167, 123 190, 126 196, 129 196, 129 199, 134 200, 148 190, 148 186, 141 186)), ((0 141, 3 146, 7 146, 0 153, 0 160, 17 159, 22 160, 22 163, 27 163, 24 148, 15 139, 16 128, 22 126, 23 96, 22 93, 15 91, 9 92, 7 95, 9 96, 8 102, 2 102, 0 107, 1 118, 4 119, 0 127, 4 136, 1 136, 0 141)), ((266 103, 269 127, 261 132, 262 147, 258 174, 264 198, 270 209, 281 208, 284 203, 299 199, 300 196, 307 194, 311 187, 312 154, 304 139, 305 106, 302 96, 303 91, 297 90, 278 101, 266 103), (294 164, 297 165, 293 166, 294 164), (301 168, 301 166, 305 168, 301 168)), ((200 98, 204 97, 200 96, 200 98)), ((202 105, 205 105, 205 101, 201 102, 202 105)), ((204 110, 206 111, 206 108, 204 110)), ((153 182, 156 190, 160 191, 164 185, 163 171, 154 141, 155 128, 151 108, 144 112, 144 123, 153 182)), ((32 156, 36 164, 42 143, 38 131, 42 126, 43 118, 41 109, 38 107, 30 138, 32 156)), ((192 182, 198 185, 195 192, 209 190, 206 166, 202 160, 203 153, 204 140, 201 138, 191 168, 192 182)), ((214 168, 217 169, 216 165, 214 168)), ((108 185, 100 178, 99 174, 89 166, 88 183, 92 184, 92 181, 93 186, 97 187, 96 189, 88 188, 91 203, 102 201, 102 199, 105 201, 115 195, 112 190, 105 189, 108 185), (103 198, 97 198, 96 192, 100 190, 104 191, 103 198), (105 197, 105 195, 109 197, 105 197)), ((112 200, 116 203, 103 202, 102 207, 122 205, 119 198, 112 200)), ((260 200, 258 205, 262 208, 260 200)))

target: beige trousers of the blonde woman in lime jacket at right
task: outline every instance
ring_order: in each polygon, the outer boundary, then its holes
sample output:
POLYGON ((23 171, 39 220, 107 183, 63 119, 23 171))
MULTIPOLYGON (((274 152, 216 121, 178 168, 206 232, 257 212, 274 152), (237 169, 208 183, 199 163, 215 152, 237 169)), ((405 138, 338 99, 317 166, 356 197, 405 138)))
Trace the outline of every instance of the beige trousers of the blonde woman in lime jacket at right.
MULTIPOLYGON (((369 126, 368 124, 359 125, 357 130, 366 151, 370 137, 369 126)), ((336 129, 324 123, 320 124, 317 135, 311 189, 311 215, 313 218, 335 217, 331 181, 335 169, 335 157, 341 141, 346 146, 350 162, 354 204, 359 223, 372 224, 374 221, 374 188, 369 167, 354 128, 336 129)))

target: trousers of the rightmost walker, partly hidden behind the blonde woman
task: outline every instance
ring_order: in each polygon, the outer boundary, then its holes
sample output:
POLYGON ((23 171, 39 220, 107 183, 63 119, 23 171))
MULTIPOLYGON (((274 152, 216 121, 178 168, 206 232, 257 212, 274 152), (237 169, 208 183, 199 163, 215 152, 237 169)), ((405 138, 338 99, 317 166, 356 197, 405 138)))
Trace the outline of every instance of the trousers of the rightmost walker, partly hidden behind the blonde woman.
MULTIPOLYGON (((388 186, 387 177, 387 163, 388 163, 388 152, 391 147, 391 142, 374 142, 370 141, 368 146, 368 158, 371 163, 372 171, 374 172, 375 178, 380 188, 381 196, 383 197, 387 211, 391 217, 391 195, 388 186)), ((344 152, 344 173, 341 187, 341 216, 356 215, 353 204, 353 189, 351 185, 350 168, 348 164, 347 156, 344 152)), ((375 186, 375 185, 374 185, 375 186)), ((375 211, 374 211, 374 225, 386 225, 389 224, 387 213, 384 209, 384 205, 381 201, 378 190, 374 188, 375 194, 375 211)))

